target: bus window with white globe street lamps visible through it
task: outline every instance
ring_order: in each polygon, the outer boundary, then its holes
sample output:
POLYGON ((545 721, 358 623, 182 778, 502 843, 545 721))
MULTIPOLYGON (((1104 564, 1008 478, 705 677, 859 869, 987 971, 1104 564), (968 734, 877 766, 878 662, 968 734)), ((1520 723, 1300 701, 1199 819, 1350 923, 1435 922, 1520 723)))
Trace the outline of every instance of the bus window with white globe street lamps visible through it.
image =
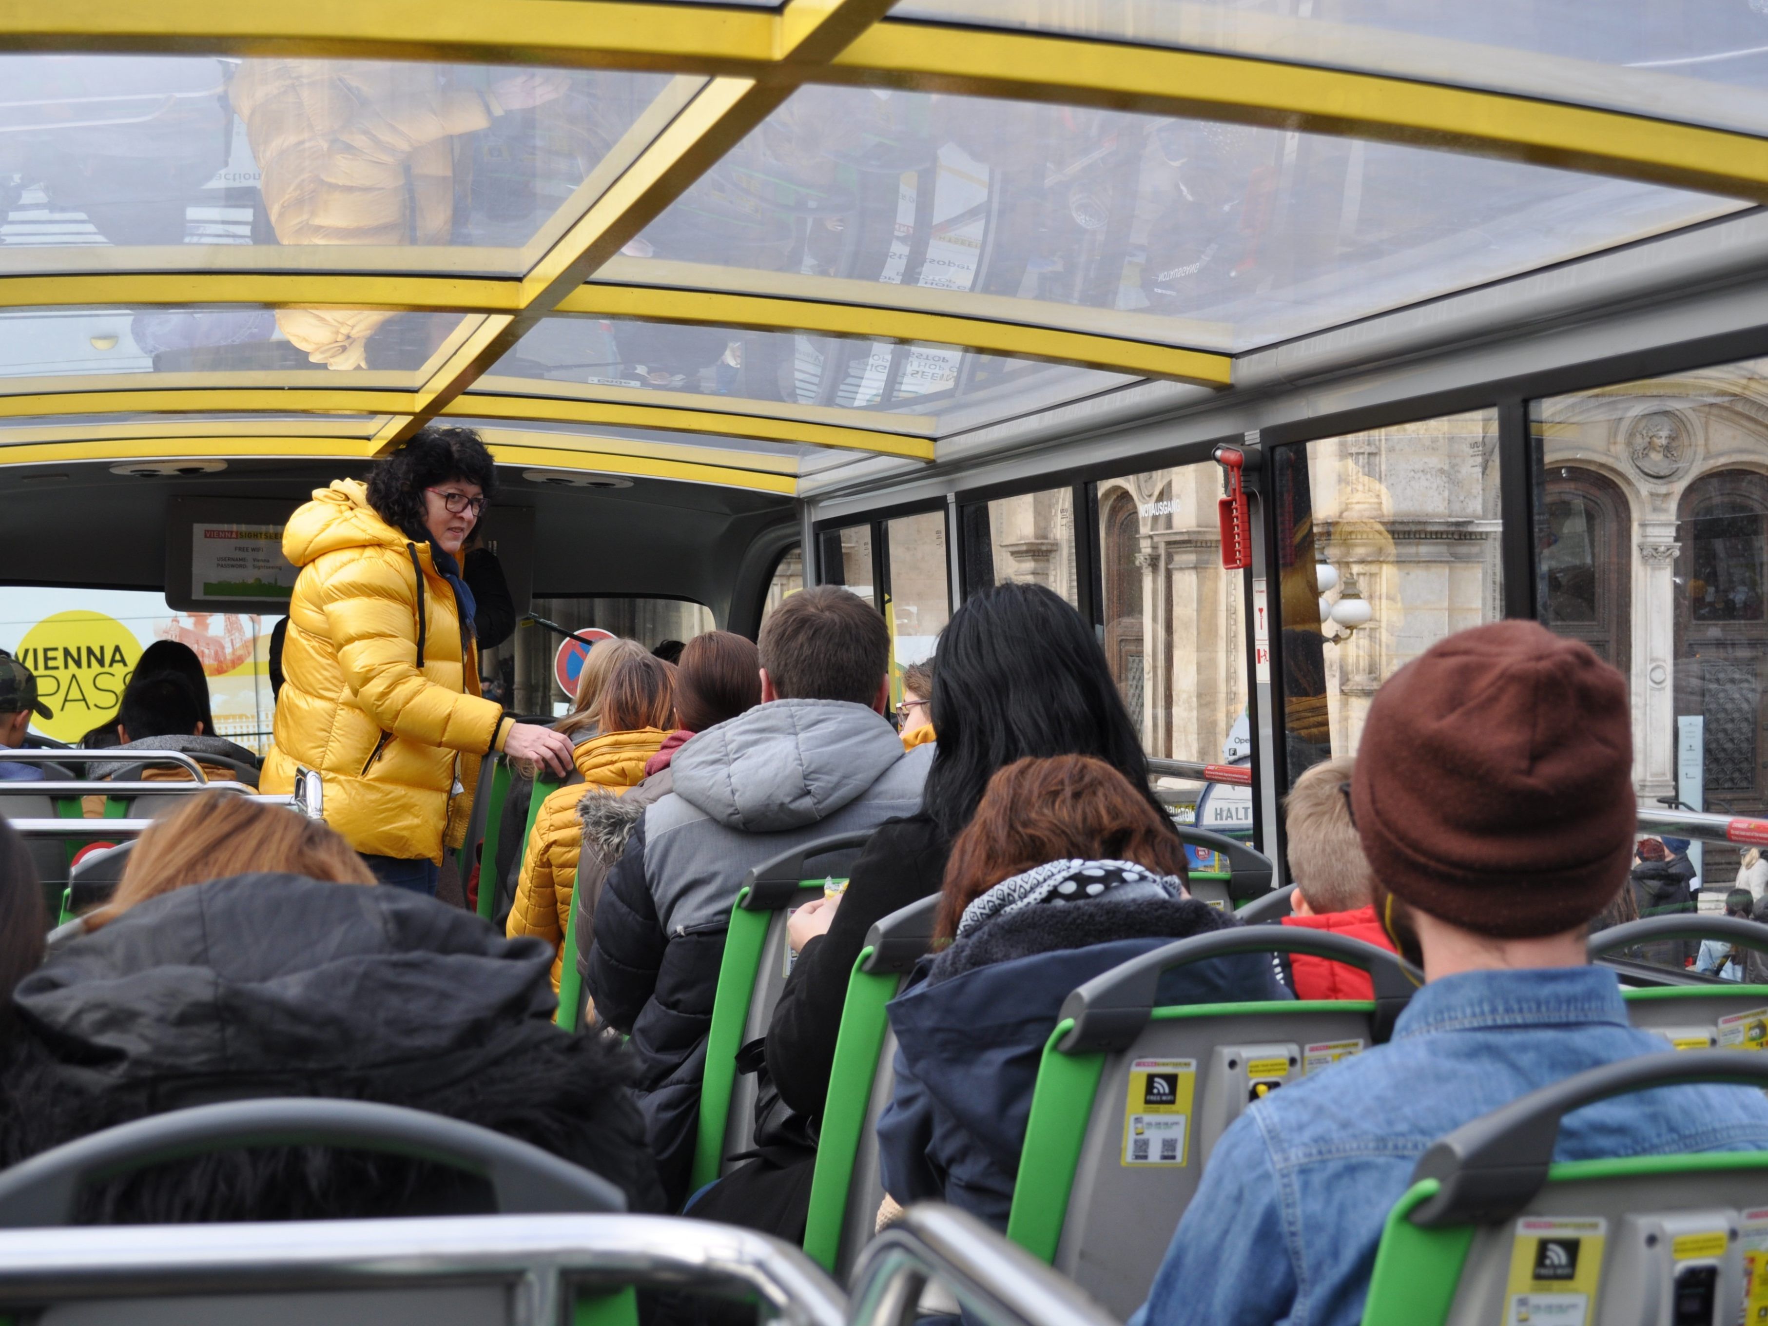
POLYGON ((1289 778, 1356 753, 1376 690, 1437 640, 1503 617, 1497 412, 1273 453, 1289 778))

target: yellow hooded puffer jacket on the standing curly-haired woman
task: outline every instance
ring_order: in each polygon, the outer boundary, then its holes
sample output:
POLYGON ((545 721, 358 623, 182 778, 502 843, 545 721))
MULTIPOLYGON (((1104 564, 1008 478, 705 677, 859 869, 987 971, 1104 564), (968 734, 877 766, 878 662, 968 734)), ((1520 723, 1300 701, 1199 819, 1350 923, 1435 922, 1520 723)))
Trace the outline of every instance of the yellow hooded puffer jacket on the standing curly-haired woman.
POLYGON ((440 861, 465 838, 479 757, 509 735, 479 695, 454 591, 355 479, 290 516, 283 555, 301 575, 260 789, 292 792, 295 766, 316 769, 325 822, 355 850, 440 861))

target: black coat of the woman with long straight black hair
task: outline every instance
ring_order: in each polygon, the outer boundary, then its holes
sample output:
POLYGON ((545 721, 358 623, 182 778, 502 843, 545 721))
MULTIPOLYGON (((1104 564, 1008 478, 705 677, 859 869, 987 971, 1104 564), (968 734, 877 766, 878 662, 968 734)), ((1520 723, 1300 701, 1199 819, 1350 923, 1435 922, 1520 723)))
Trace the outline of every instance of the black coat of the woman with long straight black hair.
POLYGON ((767 1073, 780 1098, 799 1114, 822 1117, 847 979, 866 946, 866 932, 891 912, 939 893, 949 854, 951 843, 926 815, 880 826, 854 863, 829 932, 799 951, 767 1024, 767 1073))

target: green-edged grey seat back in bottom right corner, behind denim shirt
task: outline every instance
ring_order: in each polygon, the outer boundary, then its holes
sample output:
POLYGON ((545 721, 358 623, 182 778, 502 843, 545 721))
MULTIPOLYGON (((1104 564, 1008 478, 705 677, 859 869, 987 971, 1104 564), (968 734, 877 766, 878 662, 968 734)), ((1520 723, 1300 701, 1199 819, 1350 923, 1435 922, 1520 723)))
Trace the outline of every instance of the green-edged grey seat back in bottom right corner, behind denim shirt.
POLYGON ((1768 1055, 1623 1059, 1436 1142, 1388 1213, 1363 1326, 1768 1321, 1768 1153, 1552 1160, 1565 1114, 1685 1082, 1768 1087, 1768 1055))

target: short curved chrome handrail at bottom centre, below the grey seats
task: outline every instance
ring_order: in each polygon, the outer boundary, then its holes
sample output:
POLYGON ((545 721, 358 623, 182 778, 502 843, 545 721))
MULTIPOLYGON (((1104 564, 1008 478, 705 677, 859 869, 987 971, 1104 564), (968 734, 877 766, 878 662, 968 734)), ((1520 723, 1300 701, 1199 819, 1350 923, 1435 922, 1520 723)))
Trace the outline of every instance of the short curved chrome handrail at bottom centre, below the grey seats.
POLYGON ((930 1280, 994 1326, 1117 1326, 1068 1276, 1008 1243, 981 1220, 937 1202, 903 1211, 859 1255, 852 1326, 905 1326, 930 1280))

